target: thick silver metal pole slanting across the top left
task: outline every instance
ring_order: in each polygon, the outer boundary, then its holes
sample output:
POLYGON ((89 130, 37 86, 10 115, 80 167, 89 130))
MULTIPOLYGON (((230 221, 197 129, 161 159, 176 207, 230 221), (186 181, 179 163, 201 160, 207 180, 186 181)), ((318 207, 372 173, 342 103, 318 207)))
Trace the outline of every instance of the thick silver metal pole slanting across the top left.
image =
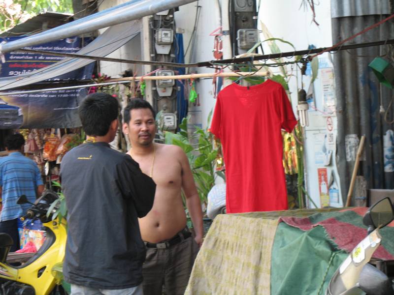
POLYGON ((0 44, 0 54, 140 19, 196 0, 131 0, 66 25, 0 44))

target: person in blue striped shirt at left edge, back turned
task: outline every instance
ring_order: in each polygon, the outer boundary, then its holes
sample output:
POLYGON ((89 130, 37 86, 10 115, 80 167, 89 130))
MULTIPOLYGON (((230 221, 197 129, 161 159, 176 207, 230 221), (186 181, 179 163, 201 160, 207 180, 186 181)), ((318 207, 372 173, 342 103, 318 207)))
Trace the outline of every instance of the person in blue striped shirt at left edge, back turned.
POLYGON ((25 215, 31 207, 29 204, 18 205, 16 201, 25 195, 34 202, 44 190, 41 175, 32 159, 22 154, 25 139, 22 134, 12 134, 5 139, 8 156, 0 158, 0 233, 7 233, 14 241, 11 252, 20 248, 18 218, 25 215))

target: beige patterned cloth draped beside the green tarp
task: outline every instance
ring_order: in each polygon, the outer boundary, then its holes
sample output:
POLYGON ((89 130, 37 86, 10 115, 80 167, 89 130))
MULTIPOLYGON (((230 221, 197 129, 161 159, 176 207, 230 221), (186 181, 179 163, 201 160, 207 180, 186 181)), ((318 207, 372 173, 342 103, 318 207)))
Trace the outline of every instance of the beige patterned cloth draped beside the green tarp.
POLYGON ((197 255, 185 295, 269 295, 277 224, 276 216, 218 215, 197 255))

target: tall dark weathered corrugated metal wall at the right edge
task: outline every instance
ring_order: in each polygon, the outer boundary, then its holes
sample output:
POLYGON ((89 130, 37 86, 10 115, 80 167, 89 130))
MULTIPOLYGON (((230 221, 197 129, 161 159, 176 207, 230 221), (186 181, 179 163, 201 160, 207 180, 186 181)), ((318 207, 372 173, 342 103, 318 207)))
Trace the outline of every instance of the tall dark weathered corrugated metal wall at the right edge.
MULTIPOLYGON (((338 3, 347 1, 333 2, 336 2, 335 7, 338 7, 338 3)), ((366 7, 364 8, 366 9, 366 7)), ((348 38, 387 16, 367 13, 364 16, 333 18, 333 43, 348 38)), ((346 44, 392 38, 394 38, 394 25, 393 22, 387 22, 346 44)), ((339 51, 333 55, 338 116, 337 163, 344 199, 346 199, 354 167, 354 161, 347 162, 346 155, 349 150, 346 151, 346 141, 354 135, 357 135, 358 138, 361 138, 361 135, 366 137, 365 160, 361 161, 359 174, 365 177, 367 188, 394 188, 394 172, 384 171, 387 154, 384 154, 383 151, 383 137, 387 132, 390 133, 390 130, 394 130, 394 125, 386 123, 382 114, 379 113, 380 101, 387 109, 393 92, 381 86, 368 67, 375 57, 384 54, 387 49, 388 46, 377 46, 339 51)), ((393 111, 392 106, 389 118, 393 118, 393 111)))

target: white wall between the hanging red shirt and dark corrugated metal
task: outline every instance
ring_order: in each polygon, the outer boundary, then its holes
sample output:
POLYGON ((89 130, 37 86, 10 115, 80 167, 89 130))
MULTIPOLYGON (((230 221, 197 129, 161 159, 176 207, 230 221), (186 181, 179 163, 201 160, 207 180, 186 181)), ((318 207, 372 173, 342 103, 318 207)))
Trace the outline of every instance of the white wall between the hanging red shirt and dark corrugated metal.
MULTIPOLYGON (((332 45, 331 37, 331 16, 330 16, 330 1, 319 1, 319 5, 315 6, 316 21, 319 26, 312 22, 312 11, 309 7, 304 10, 304 7, 300 8, 301 1, 294 0, 278 0, 278 1, 261 1, 261 7, 259 11, 259 20, 262 21, 273 37, 281 38, 291 42, 296 50, 306 50, 308 45, 313 44, 317 48, 330 47, 332 45)), ((261 27, 259 27, 261 29, 261 27)), ((282 52, 293 51, 294 49, 280 41, 276 42, 282 52)), ((263 45, 264 52, 269 53, 267 45, 263 45)), ((332 68, 329 62, 330 54, 324 54, 319 57, 320 68, 328 67, 332 68)), ((286 61, 286 59, 285 59, 286 61)), ((288 68, 291 68, 288 66, 288 68)), ((301 87, 300 71, 298 68, 294 68, 296 77, 292 78, 289 87, 291 92, 291 99, 293 108, 296 114, 297 104, 297 89, 301 87)), ((274 72, 275 69, 272 69, 274 72)), ((305 90, 308 89, 310 84, 310 76, 303 77, 303 87, 305 90)), ((337 188, 339 188, 339 176, 336 169, 335 155, 331 157, 330 165, 324 166, 318 162, 318 154, 321 149, 321 139, 326 134, 327 130, 327 113, 323 114, 323 89, 322 79, 318 76, 314 82, 315 89, 315 103, 316 108, 319 111, 310 110, 309 121, 310 126, 305 128, 304 138, 304 152, 305 152, 305 177, 306 177, 306 189, 311 196, 312 200, 318 207, 321 206, 320 191, 319 191, 319 168, 327 169, 328 180, 331 176, 335 177, 337 181, 337 188)), ((333 121, 333 130, 331 131, 334 138, 336 137, 336 126, 337 120, 335 114, 330 116, 333 121)), ((333 153, 335 154, 335 147, 333 153)), ((340 189, 340 188, 339 188, 340 189)), ((339 191, 339 202, 330 202, 330 206, 340 207, 342 206, 341 192, 339 191)), ((313 207, 312 204, 309 204, 313 207)))

